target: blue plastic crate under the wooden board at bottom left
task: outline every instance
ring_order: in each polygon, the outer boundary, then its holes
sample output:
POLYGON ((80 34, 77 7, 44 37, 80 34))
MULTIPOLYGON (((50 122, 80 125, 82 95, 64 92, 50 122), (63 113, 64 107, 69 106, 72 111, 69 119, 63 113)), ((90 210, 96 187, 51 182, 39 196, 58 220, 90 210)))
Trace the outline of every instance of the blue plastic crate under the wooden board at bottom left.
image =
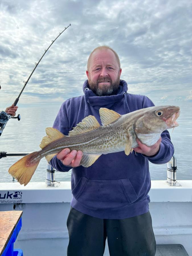
POLYGON ((21 249, 15 249, 15 252, 13 250, 13 243, 15 243, 16 238, 18 236, 18 233, 21 229, 22 226, 22 220, 20 218, 20 220, 18 221, 13 234, 11 236, 11 238, 9 239, 9 242, 7 244, 7 246, 5 247, 5 250, 3 251, 3 254, 1 256, 22 256, 23 252, 21 249))

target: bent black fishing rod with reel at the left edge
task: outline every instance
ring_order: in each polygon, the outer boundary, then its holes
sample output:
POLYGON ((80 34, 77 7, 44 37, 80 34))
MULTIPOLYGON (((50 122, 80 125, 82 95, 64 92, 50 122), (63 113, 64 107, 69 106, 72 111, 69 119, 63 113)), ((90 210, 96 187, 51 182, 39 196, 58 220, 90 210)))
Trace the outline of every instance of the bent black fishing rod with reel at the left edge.
MULTIPOLYGON (((71 26, 71 23, 69 24, 69 26, 71 26)), ((65 27, 65 29, 64 29, 61 33, 59 32, 59 35, 55 38, 55 40, 56 40, 67 28, 69 28, 69 26, 68 26, 68 27, 65 27)), ((40 61, 42 60, 43 56, 44 56, 44 55, 46 54, 46 52, 48 51, 48 49, 51 47, 51 45, 55 42, 55 40, 52 40, 52 43, 49 45, 49 47, 48 47, 47 49, 45 49, 45 52, 44 52, 44 54, 42 55, 42 57, 40 58, 40 60, 38 61, 38 63, 35 62, 35 67, 34 67, 33 71, 31 72, 30 76, 28 77, 28 79, 27 79, 26 81, 23 81, 24 86, 23 86, 23 88, 22 88, 20 94, 18 95, 18 97, 15 99, 15 101, 14 101, 14 103, 13 103, 14 106, 16 106, 16 104, 18 103, 19 98, 20 98, 20 96, 21 96, 21 94, 22 94, 22 92, 23 92, 25 86, 27 85, 29 79, 31 78, 33 72, 35 71, 36 67, 38 66, 38 64, 39 64, 40 61)), ((18 121, 19 121, 20 118, 21 118, 21 116, 18 114, 17 117, 13 117, 13 116, 7 114, 5 111, 1 111, 1 112, 0 112, 0 136, 1 136, 2 132, 3 132, 3 129, 5 128, 5 125, 7 124, 7 122, 9 121, 10 118, 16 118, 16 119, 18 119, 18 121)))

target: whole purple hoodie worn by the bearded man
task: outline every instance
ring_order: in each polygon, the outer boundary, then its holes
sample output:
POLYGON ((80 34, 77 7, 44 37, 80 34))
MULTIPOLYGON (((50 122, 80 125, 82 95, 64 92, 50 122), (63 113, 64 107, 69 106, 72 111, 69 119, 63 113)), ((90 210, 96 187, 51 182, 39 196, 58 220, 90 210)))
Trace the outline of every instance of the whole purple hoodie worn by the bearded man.
MULTIPOLYGON (((65 135, 88 115, 94 115, 101 125, 101 107, 124 115, 154 106, 146 96, 127 93, 127 83, 124 80, 120 80, 116 95, 96 96, 88 88, 88 80, 83 84, 83 92, 84 95, 63 102, 57 114, 53 127, 65 135)), ((151 186, 148 161, 164 164, 174 154, 169 132, 164 131, 161 137, 160 150, 153 157, 135 151, 127 156, 121 151, 101 155, 88 168, 73 168, 71 206, 84 214, 104 219, 123 219, 148 212, 148 192, 151 186)), ((57 156, 54 156, 50 164, 60 172, 71 169, 64 166, 57 156)))

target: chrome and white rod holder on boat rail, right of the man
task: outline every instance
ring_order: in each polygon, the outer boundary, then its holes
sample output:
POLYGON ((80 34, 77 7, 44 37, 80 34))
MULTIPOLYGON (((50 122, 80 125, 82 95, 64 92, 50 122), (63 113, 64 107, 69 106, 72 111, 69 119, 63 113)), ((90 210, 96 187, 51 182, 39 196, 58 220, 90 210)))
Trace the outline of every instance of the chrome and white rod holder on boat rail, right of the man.
POLYGON ((176 181, 177 172, 177 159, 175 155, 172 156, 171 160, 167 163, 167 183, 169 186, 180 186, 178 181, 176 181))

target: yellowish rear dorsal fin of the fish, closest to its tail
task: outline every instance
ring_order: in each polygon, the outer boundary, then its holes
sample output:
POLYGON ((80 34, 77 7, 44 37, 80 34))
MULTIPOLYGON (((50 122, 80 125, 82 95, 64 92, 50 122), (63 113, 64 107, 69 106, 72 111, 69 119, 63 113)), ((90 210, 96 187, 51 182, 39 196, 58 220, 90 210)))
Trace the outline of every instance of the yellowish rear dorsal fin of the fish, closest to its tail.
POLYGON ((65 136, 65 135, 63 135, 63 133, 61 133, 60 131, 58 131, 57 129, 52 128, 52 127, 46 128, 45 131, 46 131, 47 136, 43 137, 41 144, 39 145, 40 148, 44 148, 49 143, 56 141, 58 139, 61 139, 65 136))

